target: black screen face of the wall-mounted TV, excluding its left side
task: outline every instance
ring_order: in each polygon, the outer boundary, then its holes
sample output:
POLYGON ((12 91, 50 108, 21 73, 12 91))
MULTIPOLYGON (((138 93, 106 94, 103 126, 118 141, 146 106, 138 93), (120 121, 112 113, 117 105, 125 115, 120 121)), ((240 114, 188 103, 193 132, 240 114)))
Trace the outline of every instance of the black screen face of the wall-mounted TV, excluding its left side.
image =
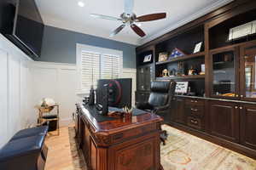
POLYGON ((13 36, 40 56, 44 35, 44 22, 34 0, 17 0, 13 36))

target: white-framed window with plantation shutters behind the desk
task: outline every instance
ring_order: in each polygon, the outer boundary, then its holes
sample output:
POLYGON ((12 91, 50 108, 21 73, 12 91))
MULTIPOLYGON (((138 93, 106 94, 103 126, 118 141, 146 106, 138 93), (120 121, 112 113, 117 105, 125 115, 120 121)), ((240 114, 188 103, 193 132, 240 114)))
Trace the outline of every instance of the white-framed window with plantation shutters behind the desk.
POLYGON ((77 45, 80 90, 89 93, 91 85, 96 88, 98 79, 119 78, 123 67, 121 51, 77 45))

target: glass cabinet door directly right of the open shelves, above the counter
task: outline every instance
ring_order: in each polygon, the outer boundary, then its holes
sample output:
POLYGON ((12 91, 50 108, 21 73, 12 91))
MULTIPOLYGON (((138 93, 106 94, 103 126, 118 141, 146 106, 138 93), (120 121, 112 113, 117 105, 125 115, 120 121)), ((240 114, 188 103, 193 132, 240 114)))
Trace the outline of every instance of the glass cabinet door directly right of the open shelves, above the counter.
POLYGON ((237 98, 236 50, 212 54, 212 96, 237 98))

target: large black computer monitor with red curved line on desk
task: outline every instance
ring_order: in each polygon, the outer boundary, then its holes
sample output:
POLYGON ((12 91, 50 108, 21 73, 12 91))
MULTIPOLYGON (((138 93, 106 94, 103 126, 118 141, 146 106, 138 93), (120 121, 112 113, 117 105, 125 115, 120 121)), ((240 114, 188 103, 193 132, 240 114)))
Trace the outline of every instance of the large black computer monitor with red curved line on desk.
POLYGON ((96 103, 102 105, 104 85, 108 84, 108 105, 123 108, 131 107, 131 78, 101 79, 97 83, 96 103))

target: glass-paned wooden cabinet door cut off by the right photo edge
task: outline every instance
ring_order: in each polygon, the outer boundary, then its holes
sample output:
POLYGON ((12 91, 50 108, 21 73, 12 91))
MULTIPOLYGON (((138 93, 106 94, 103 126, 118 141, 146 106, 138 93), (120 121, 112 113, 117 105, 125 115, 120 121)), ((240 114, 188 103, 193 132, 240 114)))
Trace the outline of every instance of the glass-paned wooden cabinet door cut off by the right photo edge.
POLYGON ((241 47, 241 99, 256 101, 256 43, 241 47))

